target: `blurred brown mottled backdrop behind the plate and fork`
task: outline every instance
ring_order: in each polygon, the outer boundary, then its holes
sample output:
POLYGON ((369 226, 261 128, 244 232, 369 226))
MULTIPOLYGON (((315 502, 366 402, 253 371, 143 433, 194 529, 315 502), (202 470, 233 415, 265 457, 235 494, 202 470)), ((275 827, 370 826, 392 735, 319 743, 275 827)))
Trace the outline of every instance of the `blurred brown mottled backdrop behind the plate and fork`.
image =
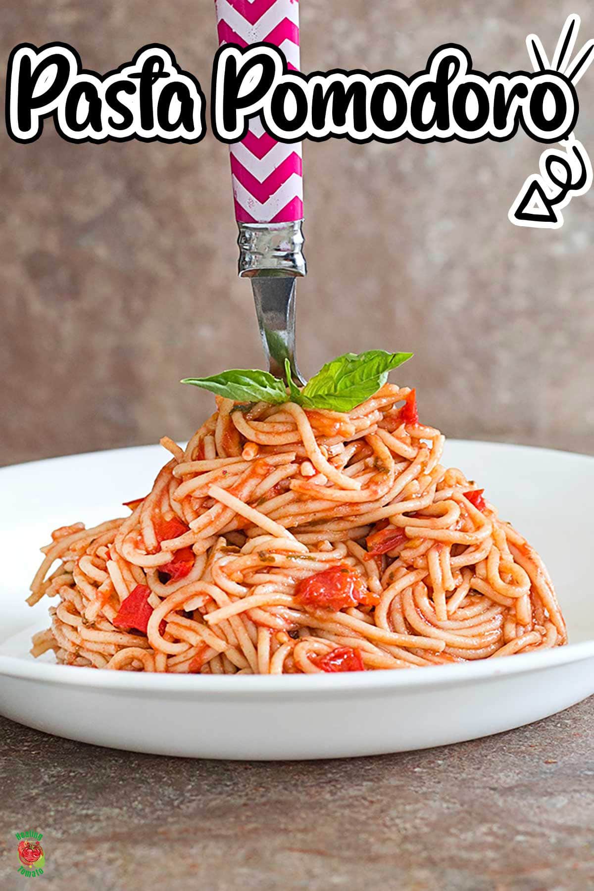
MULTIPOLYGON (((539 0, 303 0, 304 69, 422 67, 436 45, 476 67, 527 68, 524 39, 552 48, 569 12, 539 0)), ((59 39, 106 70, 165 43, 208 92, 210 0, 23 0, 0 8, 0 59, 59 39)), ((551 50, 552 51, 552 50, 551 50)), ((594 154, 594 71, 577 136, 594 154)), ((306 254, 300 364, 370 347, 412 349, 395 378, 423 419, 457 437, 594 452, 594 192, 557 231, 507 213, 541 146, 305 145, 306 254)), ((210 399, 191 374, 262 363, 237 249, 227 149, 76 146, 46 125, 23 146, 0 134, 0 462, 188 437, 210 399)))

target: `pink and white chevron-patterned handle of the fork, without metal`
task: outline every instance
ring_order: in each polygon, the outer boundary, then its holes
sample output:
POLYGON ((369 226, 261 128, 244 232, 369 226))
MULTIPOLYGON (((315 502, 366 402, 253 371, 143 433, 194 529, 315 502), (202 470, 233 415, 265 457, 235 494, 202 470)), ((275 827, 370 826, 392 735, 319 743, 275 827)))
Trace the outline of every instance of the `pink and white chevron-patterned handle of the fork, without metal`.
MULTIPOLYGON (((289 69, 299 68, 297 0, 215 0, 219 43, 278 46, 289 69)), ((290 223, 303 219, 301 143, 277 143, 259 120, 233 143, 231 172, 238 223, 290 223)))

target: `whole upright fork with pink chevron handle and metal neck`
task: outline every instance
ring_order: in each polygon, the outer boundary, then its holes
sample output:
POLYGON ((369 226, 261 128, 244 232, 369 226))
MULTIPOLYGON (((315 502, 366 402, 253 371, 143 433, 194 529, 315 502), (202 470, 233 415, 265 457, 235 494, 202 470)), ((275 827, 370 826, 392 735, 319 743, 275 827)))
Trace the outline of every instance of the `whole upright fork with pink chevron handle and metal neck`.
MULTIPOLYGON (((219 41, 283 45, 289 68, 299 65, 298 4, 274 0, 257 16, 250 0, 216 0, 219 41)), ((257 322, 270 372, 303 386, 295 358, 296 280, 305 275, 301 143, 277 143, 260 119, 233 143, 231 168, 240 234, 239 274, 251 281, 257 322)))

